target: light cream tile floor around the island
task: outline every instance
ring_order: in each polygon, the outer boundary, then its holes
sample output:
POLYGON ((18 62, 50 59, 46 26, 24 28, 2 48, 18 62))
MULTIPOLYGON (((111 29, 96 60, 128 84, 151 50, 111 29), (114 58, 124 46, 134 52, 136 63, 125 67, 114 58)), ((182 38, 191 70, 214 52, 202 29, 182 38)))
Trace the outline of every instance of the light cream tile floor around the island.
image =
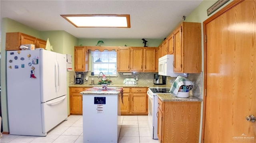
MULTIPOLYGON (((49 131, 46 137, 3 135, 0 143, 83 143, 83 117, 71 115, 49 131)), ((148 116, 121 116, 118 143, 158 143, 150 137, 148 116)))

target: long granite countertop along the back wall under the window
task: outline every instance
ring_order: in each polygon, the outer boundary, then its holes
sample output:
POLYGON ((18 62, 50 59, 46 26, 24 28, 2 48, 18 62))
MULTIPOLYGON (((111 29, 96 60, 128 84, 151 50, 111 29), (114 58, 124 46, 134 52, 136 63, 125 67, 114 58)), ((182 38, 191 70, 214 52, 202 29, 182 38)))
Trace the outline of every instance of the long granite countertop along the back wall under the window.
MULTIPOLYGON (((70 84, 69 87, 101 87, 101 85, 94 84, 70 84)), ((110 84, 108 87, 162 87, 170 88, 170 85, 155 85, 155 84, 110 84)))

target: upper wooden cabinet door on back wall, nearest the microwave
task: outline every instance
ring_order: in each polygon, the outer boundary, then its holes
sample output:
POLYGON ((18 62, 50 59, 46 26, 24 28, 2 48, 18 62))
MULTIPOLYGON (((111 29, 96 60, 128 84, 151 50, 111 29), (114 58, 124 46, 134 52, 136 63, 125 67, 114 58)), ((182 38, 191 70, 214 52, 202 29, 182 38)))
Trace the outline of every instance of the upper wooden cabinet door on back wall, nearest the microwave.
POLYGON ((155 48, 144 48, 143 71, 156 72, 156 49, 155 48))

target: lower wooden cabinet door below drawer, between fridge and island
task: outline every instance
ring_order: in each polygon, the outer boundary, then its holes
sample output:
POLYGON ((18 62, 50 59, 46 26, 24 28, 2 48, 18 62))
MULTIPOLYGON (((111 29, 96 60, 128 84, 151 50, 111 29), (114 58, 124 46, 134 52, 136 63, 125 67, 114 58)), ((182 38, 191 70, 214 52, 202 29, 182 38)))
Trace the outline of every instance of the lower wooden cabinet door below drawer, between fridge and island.
POLYGON ((82 95, 80 93, 71 93, 70 113, 82 114, 82 95))

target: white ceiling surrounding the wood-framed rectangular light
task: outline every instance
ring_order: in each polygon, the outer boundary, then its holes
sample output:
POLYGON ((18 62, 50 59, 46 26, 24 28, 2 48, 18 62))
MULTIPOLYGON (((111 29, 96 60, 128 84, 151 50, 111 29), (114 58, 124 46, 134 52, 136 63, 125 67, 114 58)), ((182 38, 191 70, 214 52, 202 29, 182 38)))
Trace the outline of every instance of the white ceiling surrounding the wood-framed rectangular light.
POLYGON ((0 0, 1 18, 78 38, 163 39, 202 0, 0 0), (60 14, 130 14, 131 28, 76 28, 60 14))

